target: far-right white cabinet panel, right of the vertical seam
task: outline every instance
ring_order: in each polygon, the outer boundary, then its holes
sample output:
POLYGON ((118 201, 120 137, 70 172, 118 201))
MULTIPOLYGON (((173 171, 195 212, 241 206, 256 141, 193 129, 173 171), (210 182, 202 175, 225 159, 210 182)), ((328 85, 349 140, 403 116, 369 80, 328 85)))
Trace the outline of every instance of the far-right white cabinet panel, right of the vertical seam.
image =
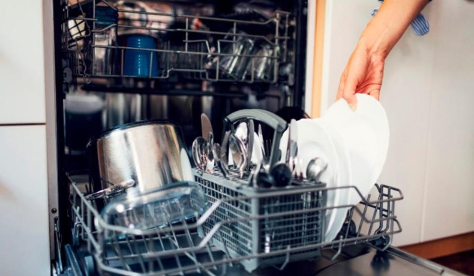
POLYGON ((436 5, 424 241, 474 231, 474 2, 436 5))

